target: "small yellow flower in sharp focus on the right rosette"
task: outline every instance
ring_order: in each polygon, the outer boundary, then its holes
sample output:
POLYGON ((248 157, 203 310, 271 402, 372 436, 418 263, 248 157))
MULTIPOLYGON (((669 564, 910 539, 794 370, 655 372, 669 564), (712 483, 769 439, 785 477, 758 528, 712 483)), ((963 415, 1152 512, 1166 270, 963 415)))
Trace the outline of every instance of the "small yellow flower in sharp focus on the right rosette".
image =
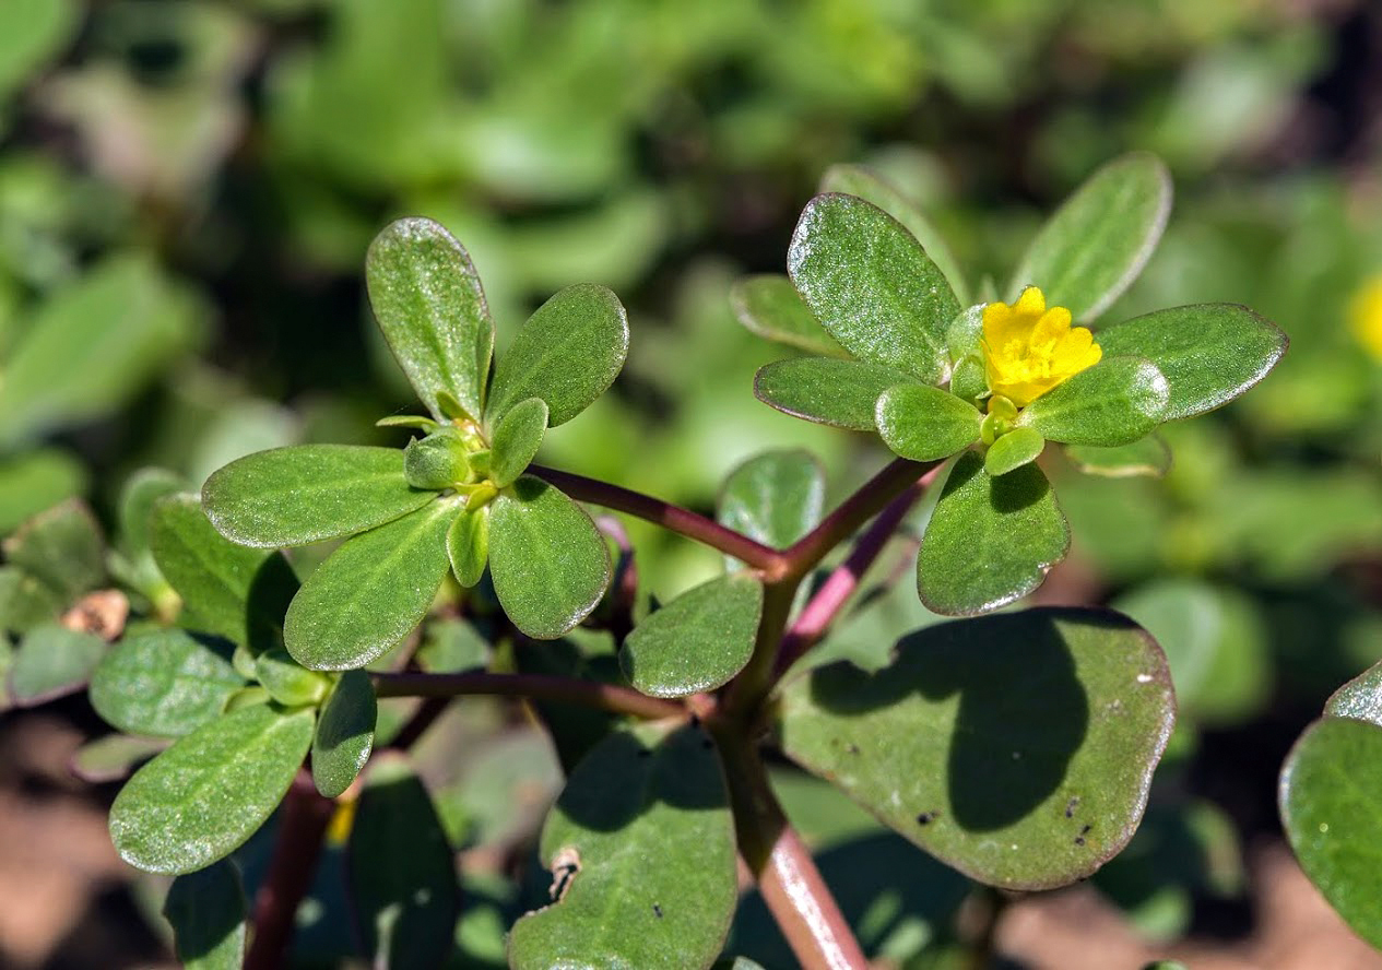
POLYGON ((1070 326, 1064 307, 1028 286, 1017 303, 984 307, 984 372, 988 390, 1025 408, 1063 380, 1099 363, 1103 351, 1088 327, 1070 326))

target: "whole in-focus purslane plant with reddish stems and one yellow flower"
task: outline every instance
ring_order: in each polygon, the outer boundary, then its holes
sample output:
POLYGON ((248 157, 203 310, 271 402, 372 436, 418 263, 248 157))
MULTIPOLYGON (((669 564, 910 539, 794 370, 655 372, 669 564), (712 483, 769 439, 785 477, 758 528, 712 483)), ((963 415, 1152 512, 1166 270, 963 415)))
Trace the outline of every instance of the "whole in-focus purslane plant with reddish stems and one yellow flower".
MULTIPOLYGON (((451 847, 405 756, 373 750, 386 696, 513 695, 615 716, 580 738, 554 728, 568 778, 539 844, 551 905, 513 926, 515 967, 710 966, 737 905, 735 857, 803 966, 864 967, 768 786, 764 745, 992 886, 1060 886, 1126 844, 1175 717, 1165 658, 1130 620, 1042 608, 887 627, 853 662, 832 662, 829 634, 849 611, 867 614, 857 594, 869 567, 943 477, 918 557, 923 602, 978 614, 1031 591, 1068 543, 1035 462, 1045 444, 1146 464, 1157 424, 1241 394, 1284 337, 1227 305, 1083 326, 1165 222, 1169 188, 1147 156, 1106 167, 1057 211, 1007 301, 969 304, 922 214, 864 170, 837 169, 825 188, 793 236, 789 278, 745 282, 735 305, 752 329, 815 354, 764 368, 761 399, 876 432, 897 456, 829 514, 824 474, 799 452, 738 468, 716 520, 533 466, 546 430, 614 380, 625 314, 603 287, 562 290, 491 377, 493 327, 474 268, 426 220, 388 227, 368 263, 376 318, 428 412, 386 423, 423 437, 402 450, 252 455, 207 481, 205 515, 171 488, 153 504, 149 554, 185 602, 185 629, 131 629, 91 696, 116 727, 176 741, 116 799, 116 847, 180 875, 174 923, 198 905, 243 911, 227 859, 283 803, 258 897, 272 902, 256 904, 249 934, 243 912, 223 916, 207 952, 235 960, 247 945, 249 966, 282 955, 305 891, 293 873, 311 871, 328 800, 341 799, 354 806, 350 891, 370 958, 445 960, 451 847), (626 583, 605 596, 605 539, 576 502, 712 546, 724 575, 640 619, 626 583), (276 549, 340 538, 299 589, 276 549), (448 569, 462 587, 491 578, 507 616, 492 625, 503 669, 404 666, 434 605, 485 614, 484 594, 435 602, 448 569), (543 640, 593 619, 625 683, 528 666, 553 649, 543 640), (386 654, 388 670, 366 669, 386 654)), ((430 710, 391 746, 405 749, 430 710)))

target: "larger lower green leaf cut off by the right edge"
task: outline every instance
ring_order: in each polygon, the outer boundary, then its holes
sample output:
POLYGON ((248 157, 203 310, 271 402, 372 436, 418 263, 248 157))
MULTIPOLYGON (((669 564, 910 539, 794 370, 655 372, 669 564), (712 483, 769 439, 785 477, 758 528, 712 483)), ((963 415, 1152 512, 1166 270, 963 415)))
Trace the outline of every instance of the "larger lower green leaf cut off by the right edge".
POLYGON ((1325 717, 1287 756, 1278 801, 1300 868, 1343 922, 1382 947, 1382 728, 1325 717))

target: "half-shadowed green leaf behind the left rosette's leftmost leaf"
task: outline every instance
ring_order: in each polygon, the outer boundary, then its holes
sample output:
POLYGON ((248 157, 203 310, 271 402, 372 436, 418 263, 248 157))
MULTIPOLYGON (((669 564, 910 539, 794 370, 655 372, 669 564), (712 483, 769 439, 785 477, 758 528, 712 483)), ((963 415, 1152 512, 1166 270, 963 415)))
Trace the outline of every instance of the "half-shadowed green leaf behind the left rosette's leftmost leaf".
POLYGON ((231 643, 278 641, 297 576, 281 553, 238 546, 211 525, 196 495, 162 499, 149 521, 153 560, 185 604, 182 622, 231 643))

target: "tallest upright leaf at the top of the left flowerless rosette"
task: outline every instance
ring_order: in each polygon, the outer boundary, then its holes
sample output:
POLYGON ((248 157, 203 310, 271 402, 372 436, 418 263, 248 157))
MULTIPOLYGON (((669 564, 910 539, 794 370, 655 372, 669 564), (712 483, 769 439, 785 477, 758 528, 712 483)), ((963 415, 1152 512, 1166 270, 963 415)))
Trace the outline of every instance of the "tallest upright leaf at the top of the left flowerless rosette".
POLYGON ((365 283, 379 329, 433 417, 449 394, 473 419, 485 408, 495 323, 470 254, 428 218, 401 218, 375 236, 365 283))

